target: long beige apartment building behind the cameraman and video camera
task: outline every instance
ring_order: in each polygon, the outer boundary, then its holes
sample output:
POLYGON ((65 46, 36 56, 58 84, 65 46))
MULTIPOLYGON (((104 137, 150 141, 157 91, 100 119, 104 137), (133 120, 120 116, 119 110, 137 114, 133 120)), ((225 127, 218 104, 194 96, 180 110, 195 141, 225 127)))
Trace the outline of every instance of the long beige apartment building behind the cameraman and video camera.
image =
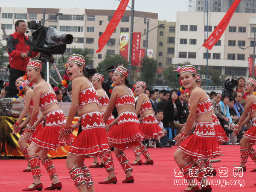
MULTIPOLYGON (((43 20, 43 8, 0 8, 0 23, 6 29, 7 35, 15 32, 14 23, 16 20, 23 19, 26 22, 31 20, 43 20)), ((98 63, 102 61, 104 55, 119 54, 119 38, 121 32, 131 32, 131 11, 125 11, 116 31, 111 36, 108 43, 100 53, 98 50, 99 36, 105 31, 109 21, 113 17, 115 10, 97 10, 97 9, 46 9, 45 26, 54 27, 58 31, 73 35, 73 43, 67 45, 66 53, 70 52, 71 47, 88 48, 91 50, 90 54, 94 56, 93 67, 97 67, 98 63), (63 15, 54 16, 56 13, 63 15), (52 17, 54 16, 54 17, 52 17), (49 19, 49 20, 48 20, 49 19)), ((144 17, 150 19, 149 30, 158 25, 158 14, 150 12, 139 12, 144 17)), ((146 20, 138 13, 134 13, 134 32, 146 31, 146 20)), ((32 38, 30 30, 26 34, 32 38)), ((0 31, 2 36, 2 43, 5 46, 6 40, 3 31, 0 31)), ((145 48, 145 36, 142 37, 140 48, 145 48)), ((1 39, 1 38, 0 38, 1 39)), ((153 49, 153 57, 157 55, 157 30, 152 30, 148 35, 148 49, 153 49)), ((130 41, 129 41, 130 43, 130 41)), ((128 51, 129 55, 129 51, 128 51)), ((89 64, 90 65, 90 64, 89 64)))

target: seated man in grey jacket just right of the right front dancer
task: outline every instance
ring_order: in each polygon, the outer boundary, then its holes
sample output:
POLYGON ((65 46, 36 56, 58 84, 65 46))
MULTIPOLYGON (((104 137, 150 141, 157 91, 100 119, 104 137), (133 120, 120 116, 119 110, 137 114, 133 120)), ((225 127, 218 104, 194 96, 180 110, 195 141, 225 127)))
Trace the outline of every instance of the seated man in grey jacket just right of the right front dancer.
POLYGON ((219 104, 221 102, 221 98, 222 98, 221 93, 216 93, 214 98, 211 99, 212 107, 214 109, 215 115, 218 117, 221 123, 221 126, 224 128, 224 131, 228 136, 228 134, 232 133, 233 130, 228 129, 230 119, 227 118, 227 116, 224 116, 224 113, 221 110, 221 105, 219 104))

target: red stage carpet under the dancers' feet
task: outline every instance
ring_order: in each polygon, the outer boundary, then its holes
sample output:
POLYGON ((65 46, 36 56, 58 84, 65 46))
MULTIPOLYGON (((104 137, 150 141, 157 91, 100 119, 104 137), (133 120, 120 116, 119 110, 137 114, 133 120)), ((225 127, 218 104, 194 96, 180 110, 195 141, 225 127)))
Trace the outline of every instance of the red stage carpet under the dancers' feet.
MULTIPOLYGON (((93 180, 96 183, 96 192, 180 192, 186 188, 186 186, 177 186, 174 184, 175 179, 183 179, 183 177, 175 177, 174 169, 177 167, 173 160, 173 154, 176 150, 176 146, 172 148, 149 148, 154 165, 142 165, 134 166, 132 172, 134 176, 134 183, 122 183, 125 179, 125 174, 121 169, 116 157, 113 157, 115 161, 115 172, 118 182, 116 185, 99 185, 98 182, 104 180, 107 177, 105 168, 90 169, 93 180)), ((239 145, 221 145, 221 150, 225 156, 220 157, 221 162, 213 163, 215 169, 217 169, 217 176, 211 177, 210 180, 244 180, 244 187, 239 185, 212 185, 212 192, 254 192, 256 191, 256 172, 250 172, 250 170, 256 168, 255 163, 248 159, 247 171, 243 172, 243 177, 233 176, 233 165, 239 166, 240 153, 239 145), (218 168, 226 166, 228 170, 228 177, 220 177, 218 168)), ((130 162, 133 162, 135 157, 132 149, 126 149, 125 153, 128 155, 130 162)), ((113 151, 112 151, 113 154, 113 151)), ((143 159, 143 156, 142 160, 143 159)), ((65 159, 55 159, 53 163, 57 169, 59 179, 62 182, 62 192, 78 192, 73 185, 73 181, 70 179, 68 170, 65 165, 65 159)), ((89 166, 93 162, 92 158, 85 160, 85 165, 89 166)), ((26 160, 0 160, 0 192, 19 192, 32 183, 31 172, 22 172, 27 166, 26 160)), ((44 187, 47 187, 51 180, 49 180, 48 174, 44 167, 41 167, 41 181, 44 187)), ((44 191, 44 189, 43 189, 44 191)))

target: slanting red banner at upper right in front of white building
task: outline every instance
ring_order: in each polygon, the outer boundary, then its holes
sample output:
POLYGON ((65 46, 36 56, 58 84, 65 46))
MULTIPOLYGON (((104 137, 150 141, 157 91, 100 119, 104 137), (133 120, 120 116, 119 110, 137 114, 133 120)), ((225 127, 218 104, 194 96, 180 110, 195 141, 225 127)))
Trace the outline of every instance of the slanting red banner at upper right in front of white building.
POLYGON ((203 46, 209 50, 212 50, 212 47, 217 43, 221 38, 224 31, 227 28, 228 23, 230 22, 231 17, 233 16, 238 4, 241 0, 235 0, 230 9, 227 11, 226 15, 222 18, 221 22, 214 29, 209 38, 204 42, 203 46))

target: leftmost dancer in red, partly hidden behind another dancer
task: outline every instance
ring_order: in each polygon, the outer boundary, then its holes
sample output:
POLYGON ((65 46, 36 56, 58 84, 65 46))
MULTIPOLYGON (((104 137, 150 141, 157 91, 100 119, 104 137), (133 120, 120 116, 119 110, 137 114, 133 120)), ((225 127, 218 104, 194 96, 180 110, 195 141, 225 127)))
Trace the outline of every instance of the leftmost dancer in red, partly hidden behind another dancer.
MULTIPOLYGON (((22 84, 25 82, 25 79, 23 79, 23 77, 20 77, 16 80, 15 85, 17 90, 19 91, 23 91, 25 92, 26 95, 26 102, 24 103, 24 109, 20 114, 19 119, 15 122, 15 124, 13 125, 12 128, 14 128, 14 131, 12 132, 12 134, 17 134, 20 132, 21 128, 28 124, 32 115, 32 111, 34 108, 34 103, 33 103, 33 90, 28 86, 22 86, 22 84), (20 87, 23 87, 22 90, 20 90, 20 87), (22 121, 22 119, 26 116, 26 114, 28 113, 28 116, 26 117, 26 119, 20 124, 20 122, 22 121)), ((38 113, 38 118, 41 115, 41 111, 39 111, 38 113)), ((38 118, 36 119, 36 121, 38 120, 38 118)), ((33 136, 35 137, 35 135, 38 133, 39 129, 42 128, 42 122, 41 124, 38 125, 38 127, 36 128, 35 133, 33 134, 33 136)), ((23 134, 20 136, 19 140, 18 140, 18 144, 20 146, 21 152, 24 155, 25 159, 29 162, 29 155, 28 155, 28 144, 31 144, 32 141, 32 137, 29 137, 28 139, 24 138, 25 135, 25 131, 23 132, 23 134)), ((31 172, 31 165, 30 163, 28 164, 27 168, 23 170, 23 172, 31 172), (30 169, 29 169, 30 168, 30 169)))

